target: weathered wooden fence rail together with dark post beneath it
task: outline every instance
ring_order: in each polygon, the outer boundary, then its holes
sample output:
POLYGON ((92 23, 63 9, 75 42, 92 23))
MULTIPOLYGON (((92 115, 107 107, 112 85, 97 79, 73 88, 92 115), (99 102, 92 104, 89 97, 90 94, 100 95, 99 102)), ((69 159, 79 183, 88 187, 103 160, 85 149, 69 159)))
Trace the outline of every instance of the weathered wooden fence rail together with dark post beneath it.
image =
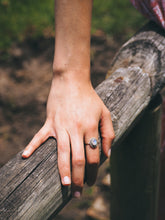
MULTIPOLYGON (((111 220, 156 220, 164 48, 165 32, 148 23, 122 46, 96 88, 116 134, 111 220)), ((60 183, 56 141, 50 138, 27 160, 21 153, 0 169, 0 219, 49 219, 71 199, 70 187, 60 183)))

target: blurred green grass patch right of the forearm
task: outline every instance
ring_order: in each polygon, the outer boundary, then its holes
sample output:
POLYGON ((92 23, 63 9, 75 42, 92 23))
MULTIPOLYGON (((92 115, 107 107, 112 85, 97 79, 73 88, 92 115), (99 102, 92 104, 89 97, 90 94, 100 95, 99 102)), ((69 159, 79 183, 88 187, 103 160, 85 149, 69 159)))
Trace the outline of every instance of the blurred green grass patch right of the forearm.
POLYGON ((92 32, 101 29, 113 37, 129 37, 145 22, 130 0, 94 0, 93 3, 92 32))

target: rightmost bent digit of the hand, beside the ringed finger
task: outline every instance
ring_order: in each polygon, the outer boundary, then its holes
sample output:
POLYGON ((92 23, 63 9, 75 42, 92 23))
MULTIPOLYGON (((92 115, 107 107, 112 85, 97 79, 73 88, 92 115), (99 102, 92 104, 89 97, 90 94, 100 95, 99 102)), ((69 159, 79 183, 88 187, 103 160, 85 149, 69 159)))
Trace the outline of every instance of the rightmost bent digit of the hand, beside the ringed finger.
POLYGON ((105 156, 110 157, 111 144, 115 138, 113 125, 111 121, 111 115, 108 109, 104 109, 100 120, 100 131, 102 139, 102 149, 105 156))

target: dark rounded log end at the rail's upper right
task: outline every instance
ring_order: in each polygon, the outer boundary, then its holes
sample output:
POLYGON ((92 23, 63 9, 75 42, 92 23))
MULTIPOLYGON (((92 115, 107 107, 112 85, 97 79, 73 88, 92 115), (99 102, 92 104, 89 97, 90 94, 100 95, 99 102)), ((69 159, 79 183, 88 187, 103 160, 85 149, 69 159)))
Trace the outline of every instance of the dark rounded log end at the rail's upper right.
POLYGON ((151 79, 152 96, 165 84, 165 31, 149 22, 126 42, 112 62, 107 77, 120 67, 139 67, 151 79))

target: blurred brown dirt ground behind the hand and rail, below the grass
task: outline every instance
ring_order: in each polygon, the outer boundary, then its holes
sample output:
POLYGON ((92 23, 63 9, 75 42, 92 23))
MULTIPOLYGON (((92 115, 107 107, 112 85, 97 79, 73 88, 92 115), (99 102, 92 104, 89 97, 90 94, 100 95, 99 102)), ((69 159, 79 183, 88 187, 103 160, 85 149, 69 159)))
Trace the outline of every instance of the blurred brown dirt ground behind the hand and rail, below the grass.
MULTIPOLYGON (((104 80, 111 60, 121 44, 122 42, 115 42, 101 32, 92 37, 91 79, 94 87, 104 80)), ((52 78, 53 51, 53 39, 27 40, 23 44, 13 45, 11 55, 5 62, 0 60, 0 167, 27 145, 44 123, 52 78)), ((165 164, 164 158, 165 156, 162 161, 165 164)), ((107 168, 108 162, 101 168, 96 185, 92 188, 85 187, 83 198, 70 202, 52 220, 107 220, 110 190, 109 186, 102 183, 107 168), (104 202, 99 200, 102 198, 104 202), (105 216, 102 213, 97 218, 87 215, 94 200, 101 201, 98 204, 105 208, 105 216)), ((161 171, 162 176, 164 170, 161 171)), ((165 178, 163 181, 165 185, 165 178)), ((164 191, 161 193, 161 213, 164 213, 164 191)), ((160 219, 165 219, 162 214, 160 219)))

